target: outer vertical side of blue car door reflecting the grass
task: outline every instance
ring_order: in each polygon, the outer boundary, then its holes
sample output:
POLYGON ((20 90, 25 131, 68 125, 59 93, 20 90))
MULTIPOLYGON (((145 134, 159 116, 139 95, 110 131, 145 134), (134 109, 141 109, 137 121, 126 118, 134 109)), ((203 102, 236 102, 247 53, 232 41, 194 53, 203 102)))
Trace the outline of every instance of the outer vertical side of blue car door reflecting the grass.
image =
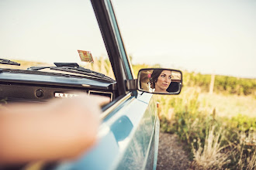
MULTIPOLYGON (((141 101, 141 100, 140 100, 141 101)), ((150 97, 149 104, 154 104, 150 97)), ((130 144, 119 162, 117 169, 152 169, 155 151, 155 114, 153 106, 148 105, 144 116, 133 134, 130 144)), ((158 132, 157 132, 158 133, 158 132)), ((158 142, 158 141, 157 141, 158 142)))

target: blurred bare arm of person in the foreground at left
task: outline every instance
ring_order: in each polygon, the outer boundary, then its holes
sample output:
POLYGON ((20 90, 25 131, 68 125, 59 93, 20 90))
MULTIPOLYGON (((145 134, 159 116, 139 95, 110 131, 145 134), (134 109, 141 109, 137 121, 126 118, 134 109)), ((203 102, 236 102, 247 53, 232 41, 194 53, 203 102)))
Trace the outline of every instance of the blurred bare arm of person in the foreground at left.
POLYGON ((0 108, 0 164, 77 157, 95 144, 106 100, 82 94, 0 108))

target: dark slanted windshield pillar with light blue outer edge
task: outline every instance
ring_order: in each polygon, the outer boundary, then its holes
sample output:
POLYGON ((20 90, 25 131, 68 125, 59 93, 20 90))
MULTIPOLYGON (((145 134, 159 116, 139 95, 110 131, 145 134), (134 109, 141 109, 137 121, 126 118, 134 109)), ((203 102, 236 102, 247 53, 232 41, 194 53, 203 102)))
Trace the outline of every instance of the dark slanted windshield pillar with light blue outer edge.
POLYGON ((116 77, 119 96, 126 95, 125 80, 133 80, 133 70, 127 57, 111 0, 91 0, 102 39, 105 43, 112 70, 116 77))

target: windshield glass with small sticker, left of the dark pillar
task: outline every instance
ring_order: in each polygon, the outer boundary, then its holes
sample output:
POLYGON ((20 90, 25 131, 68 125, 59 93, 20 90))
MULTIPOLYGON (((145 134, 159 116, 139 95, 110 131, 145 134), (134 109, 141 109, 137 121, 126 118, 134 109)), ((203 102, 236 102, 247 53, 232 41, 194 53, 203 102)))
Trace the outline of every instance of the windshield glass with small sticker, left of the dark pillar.
POLYGON ((0 68, 78 63, 114 78, 90 1, 0 1, 0 20, 0 58, 21 64, 0 68))

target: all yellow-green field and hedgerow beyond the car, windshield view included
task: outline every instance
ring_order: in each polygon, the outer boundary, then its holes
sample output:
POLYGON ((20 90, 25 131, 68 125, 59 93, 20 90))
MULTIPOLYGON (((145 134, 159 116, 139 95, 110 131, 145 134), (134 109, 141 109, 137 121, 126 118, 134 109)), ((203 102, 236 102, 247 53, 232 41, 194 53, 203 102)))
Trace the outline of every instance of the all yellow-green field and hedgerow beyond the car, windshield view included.
MULTIPOLYGON (((25 67, 43 65, 19 62, 25 67)), ((106 59, 85 67, 114 77, 106 59)), ((147 67, 159 65, 133 65, 135 76, 147 67)), ((161 131, 178 134, 187 144, 194 169, 255 169, 256 79, 186 71, 183 76, 180 95, 155 96, 161 131)))

